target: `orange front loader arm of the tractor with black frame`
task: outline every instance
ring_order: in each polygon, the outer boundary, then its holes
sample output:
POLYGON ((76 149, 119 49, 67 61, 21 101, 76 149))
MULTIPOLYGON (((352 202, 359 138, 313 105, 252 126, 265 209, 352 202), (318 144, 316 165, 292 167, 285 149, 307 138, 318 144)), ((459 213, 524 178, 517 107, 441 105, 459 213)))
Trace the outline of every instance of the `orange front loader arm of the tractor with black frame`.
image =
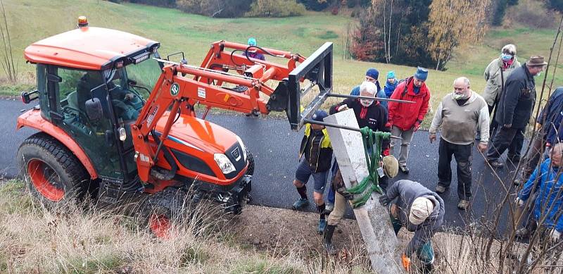
POLYGON ((227 53, 225 48, 248 50, 248 46, 229 42, 216 42, 212 45, 203 61, 202 67, 189 66, 158 59, 166 64, 155 87, 142 108, 137 121, 132 125, 135 161, 139 178, 148 182, 151 168, 156 165, 157 156, 163 146, 160 141, 156 151, 151 147, 149 135, 154 132, 158 120, 167 111, 165 128, 159 132, 160 140, 165 140, 179 113, 194 115, 196 103, 209 107, 223 108, 241 113, 285 111, 292 130, 299 130, 304 121, 312 116, 332 89, 332 44, 325 43, 309 58, 287 51, 258 48, 259 52, 288 58, 287 65, 279 65, 246 56, 227 53), (296 62, 301 63, 299 66, 296 62), (229 69, 237 73, 229 73, 229 69), (310 85, 301 89, 305 79, 310 85), (276 80, 275 89, 267 85, 276 80), (246 92, 223 85, 228 83, 236 87, 245 87, 246 92), (312 101, 302 106, 301 97, 308 94, 312 87, 319 87, 319 94, 312 101), (270 96, 261 98, 260 92, 270 96), (178 114, 175 114, 178 113, 178 114))

